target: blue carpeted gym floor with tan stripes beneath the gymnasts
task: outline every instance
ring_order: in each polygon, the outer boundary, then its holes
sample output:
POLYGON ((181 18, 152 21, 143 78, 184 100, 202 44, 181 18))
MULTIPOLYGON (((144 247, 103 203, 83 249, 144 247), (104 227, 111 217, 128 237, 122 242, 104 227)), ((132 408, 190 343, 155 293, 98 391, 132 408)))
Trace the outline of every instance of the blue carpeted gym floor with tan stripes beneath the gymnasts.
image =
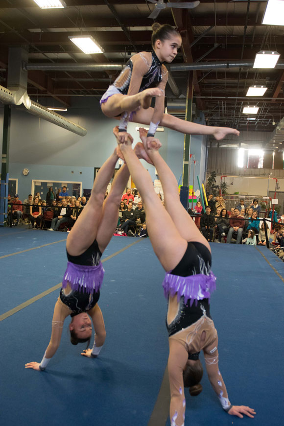
MULTIPOLYGON (((80 355, 85 344, 71 345, 67 319, 47 370, 24 368, 41 361, 49 342, 66 237, 0 228, 1 424, 170 425, 164 271, 149 239, 113 237, 103 254, 99 306, 107 337, 99 357, 80 355)), ((219 368, 230 401, 257 415, 225 413, 205 371, 202 393, 186 390, 185 425, 282 425, 284 262, 266 247, 211 248, 219 368)))

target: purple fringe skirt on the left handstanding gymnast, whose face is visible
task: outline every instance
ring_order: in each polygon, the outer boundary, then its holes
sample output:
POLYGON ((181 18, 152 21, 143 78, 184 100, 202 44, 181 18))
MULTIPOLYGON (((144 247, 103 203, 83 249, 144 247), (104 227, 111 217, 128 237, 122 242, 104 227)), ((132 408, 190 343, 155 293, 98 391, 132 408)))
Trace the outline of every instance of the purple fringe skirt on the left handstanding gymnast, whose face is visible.
POLYGON ((68 262, 62 280, 62 287, 66 288, 69 284, 72 290, 94 293, 94 290, 97 292, 100 289, 103 276, 104 268, 101 262, 97 266, 77 265, 68 262))

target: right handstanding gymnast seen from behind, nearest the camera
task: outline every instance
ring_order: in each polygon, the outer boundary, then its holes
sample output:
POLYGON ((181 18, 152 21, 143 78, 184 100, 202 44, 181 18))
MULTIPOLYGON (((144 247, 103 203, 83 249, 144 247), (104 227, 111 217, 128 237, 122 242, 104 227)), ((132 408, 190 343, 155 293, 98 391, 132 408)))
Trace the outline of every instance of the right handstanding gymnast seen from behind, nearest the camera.
MULTIPOLYGON (((232 405, 218 367, 218 337, 210 315, 209 299, 215 288, 211 272, 211 249, 200 234, 178 195, 176 178, 159 154, 161 142, 151 141, 146 154, 157 169, 164 190, 165 208, 153 188, 148 171, 136 154, 145 158, 143 145, 131 147, 132 138, 119 142, 118 128, 114 134, 129 172, 143 199, 147 230, 154 252, 166 270, 163 282, 168 298, 166 325, 169 335, 168 374, 170 382, 171 426, 184 426, 184 386, 191 395, 198 395, 202 386, 202 364, 198 359, 203 350, 206 370, 223 409, 230 415, 254 417, 254 409, 232 405), (166 232, 165 232, 166 230, 166 232)), ((140 129, 145 144, 147 132, 140 129)))

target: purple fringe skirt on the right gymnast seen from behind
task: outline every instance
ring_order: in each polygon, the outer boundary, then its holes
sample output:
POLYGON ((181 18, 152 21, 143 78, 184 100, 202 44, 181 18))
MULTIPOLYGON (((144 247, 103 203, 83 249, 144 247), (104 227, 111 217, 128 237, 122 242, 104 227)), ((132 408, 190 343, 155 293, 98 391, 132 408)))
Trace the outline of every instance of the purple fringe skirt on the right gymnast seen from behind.
POLYGON ((166 273, 163 281, 164 294, 173 297, 177 293, 178 301, 181 296, 184 296, 185 303, 190 299, 190 306, 193 301, 202 300, 205 298, 210 299, 211 293, 216 288, 216 277, 210 272, 210 275, 196 274, 189 275, 189 277, 180 277, 178 275, 171 275, 166 273))

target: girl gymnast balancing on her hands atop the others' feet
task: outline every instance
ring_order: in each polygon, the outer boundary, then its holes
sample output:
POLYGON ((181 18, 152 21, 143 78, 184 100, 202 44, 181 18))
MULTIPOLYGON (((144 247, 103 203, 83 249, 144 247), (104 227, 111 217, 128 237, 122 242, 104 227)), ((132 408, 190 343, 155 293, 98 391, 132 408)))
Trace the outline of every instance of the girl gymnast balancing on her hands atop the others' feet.
POLYGON ((148 148, 159 124, 181 133, 213 135, 217 141, 228 134, 238 136, 236 129, 204 126, 164 114, 168 79, 164 62, 174 60, 182 40, 179 32, 171 25, 155 23, 152 28, 152 52, 133 55, 100 99, 105 116, 120 116, 119 142, 123 143, 127 138, 128 121, 150 125, 146 141, 148 148), (153 96, 156 96, 154 109, 150 108, 153 96))

